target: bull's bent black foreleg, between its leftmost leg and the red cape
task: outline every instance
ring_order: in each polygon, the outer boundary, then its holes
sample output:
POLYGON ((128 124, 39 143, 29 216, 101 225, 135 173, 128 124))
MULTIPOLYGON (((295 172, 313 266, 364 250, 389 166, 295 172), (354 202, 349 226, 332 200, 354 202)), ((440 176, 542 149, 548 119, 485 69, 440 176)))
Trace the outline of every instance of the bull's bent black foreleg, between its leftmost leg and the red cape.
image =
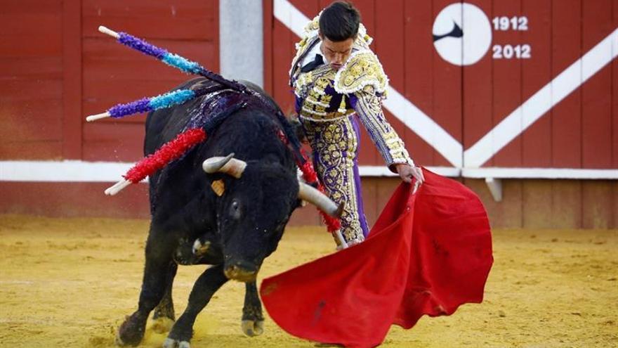
POLYGON ((228 277, 223 274, 223 264, 206 269, 206 271, 197 278, 191 290, 191 295, 189 295, 187 309, 185 309, 183 315, 178 318, 178 321, 176 321, 176 324, 174 324, 171 329, 171 332, 163 344, 164 348, 189 347, 189 342, 193 335, 195 317, 206 307, 212 295, 227 281, 228 277))

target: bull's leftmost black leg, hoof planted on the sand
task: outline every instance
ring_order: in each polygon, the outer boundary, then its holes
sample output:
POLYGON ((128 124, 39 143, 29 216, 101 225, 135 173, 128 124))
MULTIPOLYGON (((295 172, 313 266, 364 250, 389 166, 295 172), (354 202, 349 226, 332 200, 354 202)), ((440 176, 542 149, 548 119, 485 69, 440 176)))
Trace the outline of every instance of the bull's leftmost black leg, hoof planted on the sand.
POLYGON ((118 328, 117 344, 136 346, 144 337, 148 315, 161 302, 166 289, 169 265, 172 262, 171 252, 176 248, 173 235, 150 227, 138 310, 126 317, 118 328))

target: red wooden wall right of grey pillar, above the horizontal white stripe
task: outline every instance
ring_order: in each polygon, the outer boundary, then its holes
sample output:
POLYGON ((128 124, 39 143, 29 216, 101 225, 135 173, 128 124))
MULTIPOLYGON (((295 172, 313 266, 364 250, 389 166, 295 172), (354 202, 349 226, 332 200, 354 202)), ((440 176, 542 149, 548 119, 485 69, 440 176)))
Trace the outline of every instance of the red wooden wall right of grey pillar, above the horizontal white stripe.
MULTIPOLYGON (((330 2, 289 1, 308 18, 330 2)), ((454 1, 353 2, 375 39, 372 49, 391 86, 463 143, 464 150, 618 28, 618 0, 470 0, 490 22, 525 17, 528 30, 494 30, 492 22, 489 51, 477 63, 459 67, 438 55, 431 35, 438 13, 454 1), (494 59, 493 46, 506 44, 530 45, 531 58, 494 59)), ((287 80, 298 37, 274 18, 272 1, 265 3, 266 87, 291 112, 287 80)), ((614 59, 483 166, 617 169, 617 77, 614 59)), ((416 162, 452 166, 393 115, 387 112, 387 117, 416 162)), ((360 164, 382 165, 367 136, 362 142, 360 164)))

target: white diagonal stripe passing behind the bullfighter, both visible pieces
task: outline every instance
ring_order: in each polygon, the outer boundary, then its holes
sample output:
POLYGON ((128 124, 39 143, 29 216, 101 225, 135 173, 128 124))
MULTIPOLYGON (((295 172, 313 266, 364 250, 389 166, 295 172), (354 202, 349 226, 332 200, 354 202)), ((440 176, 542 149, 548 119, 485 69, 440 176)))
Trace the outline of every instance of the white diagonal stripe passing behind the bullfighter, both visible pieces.
MULTIPOLYGON (((303 35, 303 27, 309 18, 298 11, 287 0, 275 0, 273 13, 277 20, 283 23, 298 37, 303 35)), ((414 131, 419 137, 435 148, 440 155, 444 156, 454 167, 461 167, 463 148, 445 129, 431 120, 424 112, 413 103, 404 98, 397 90, 388 87, 388 98, 384 106, 406 127, 414 131)))

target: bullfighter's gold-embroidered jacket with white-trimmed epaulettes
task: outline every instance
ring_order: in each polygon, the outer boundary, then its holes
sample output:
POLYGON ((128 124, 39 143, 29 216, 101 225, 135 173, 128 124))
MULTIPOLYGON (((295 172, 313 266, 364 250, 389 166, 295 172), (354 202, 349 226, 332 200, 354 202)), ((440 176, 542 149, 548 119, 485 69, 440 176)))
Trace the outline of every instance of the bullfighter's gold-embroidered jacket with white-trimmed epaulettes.
POLYGON ((339 70, 323 64, 301 72, 305 56, 320 44, 318 20, 319 15, 305 27, 289 72, 298 116, 305 121, 334 122, 356 112, 389 167, 395 163, 414 165, 405 144, 384 117, 382 99, 388 77, 369 49, 372 38, 362 24, 352 53, 339 70))

